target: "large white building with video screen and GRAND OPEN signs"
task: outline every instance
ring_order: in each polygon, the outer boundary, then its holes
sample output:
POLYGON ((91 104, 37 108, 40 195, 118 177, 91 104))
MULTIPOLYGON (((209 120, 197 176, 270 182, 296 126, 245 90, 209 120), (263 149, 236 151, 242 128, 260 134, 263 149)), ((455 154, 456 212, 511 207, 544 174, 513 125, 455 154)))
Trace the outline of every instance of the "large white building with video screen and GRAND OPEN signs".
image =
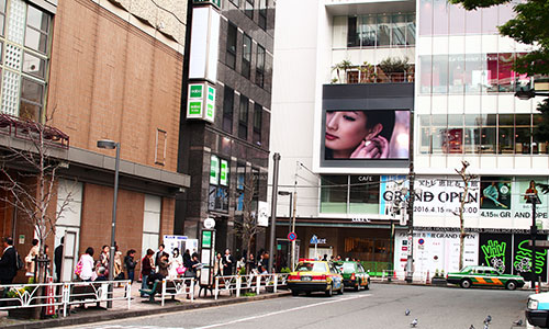
MULTIPOLYGON (((468 12, 441 0, 278 1, 284 37, 274 44, 271 150, 282 158, 280 189, 296 192, 301 257, 340 254, 404 275, 414 250, 416 277, 457 270, 456 169, 468 161, 478 178, 464 207, 464 264, 529 272, 525 194, 539 194, 538 238, 547 239, 539 183, 549 157, 533 135, 539 99, 514 97, 530 78, 513 71, 529 48, 496 29, 512 16, 512 4, 468 12), (363 117, 366 131, 350 131, 363 117), (345 132, 358 140, 338 146, 345 132), (402 215, 411 160, 413 224, 402 215)), ((284 245, 293 214, 288 197, 278 201, 284 245)), ((536 269, 547 281, 547 252, 538 251, 536 269)))

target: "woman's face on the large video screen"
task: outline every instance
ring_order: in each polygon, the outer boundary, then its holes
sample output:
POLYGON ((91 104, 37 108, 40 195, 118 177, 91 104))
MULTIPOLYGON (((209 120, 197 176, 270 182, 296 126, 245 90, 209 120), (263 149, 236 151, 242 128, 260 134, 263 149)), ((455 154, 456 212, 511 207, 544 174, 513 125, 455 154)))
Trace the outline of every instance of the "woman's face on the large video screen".
POLYGON ((352 152, 368 135, 363 111, 327 111, 325 145, 334 151, 352 152))

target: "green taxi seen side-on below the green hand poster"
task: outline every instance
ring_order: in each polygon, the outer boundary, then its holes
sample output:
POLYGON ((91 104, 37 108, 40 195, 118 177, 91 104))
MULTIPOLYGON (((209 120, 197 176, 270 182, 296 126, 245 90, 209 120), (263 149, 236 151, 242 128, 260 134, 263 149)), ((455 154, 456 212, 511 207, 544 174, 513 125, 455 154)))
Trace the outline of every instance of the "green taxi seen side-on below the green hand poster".
POLYGON ((500 274, 492 266, 466 266, 459 272, 448 273, 448 283, 459 284, 463 288, 474 286, 501 286, 509 291, 524 286, 520 275, 500 274))

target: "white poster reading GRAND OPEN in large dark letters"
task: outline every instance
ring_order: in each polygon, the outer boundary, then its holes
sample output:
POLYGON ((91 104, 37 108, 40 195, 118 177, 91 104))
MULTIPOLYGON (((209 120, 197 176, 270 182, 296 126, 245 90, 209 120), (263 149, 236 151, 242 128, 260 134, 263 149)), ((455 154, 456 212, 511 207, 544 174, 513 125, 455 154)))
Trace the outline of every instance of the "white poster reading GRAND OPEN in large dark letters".
MULTIPOLYGON (((464 216, 479 214, 479 181, 472 181, 464 207, 464 216)), ((456 179, 417 179, 415 188, 421 191, 416 194, 414 213, 430 216, 456 216, 463 195, 463 182, 456 179)))

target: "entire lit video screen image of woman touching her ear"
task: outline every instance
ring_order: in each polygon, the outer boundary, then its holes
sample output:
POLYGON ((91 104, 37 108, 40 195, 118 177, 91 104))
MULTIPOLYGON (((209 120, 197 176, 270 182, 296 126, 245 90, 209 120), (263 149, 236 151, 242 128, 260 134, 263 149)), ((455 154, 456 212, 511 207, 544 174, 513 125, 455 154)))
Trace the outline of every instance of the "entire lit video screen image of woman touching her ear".
POLYGON ((325 160, 407 159, 410 111, 326 111, 325 160))

